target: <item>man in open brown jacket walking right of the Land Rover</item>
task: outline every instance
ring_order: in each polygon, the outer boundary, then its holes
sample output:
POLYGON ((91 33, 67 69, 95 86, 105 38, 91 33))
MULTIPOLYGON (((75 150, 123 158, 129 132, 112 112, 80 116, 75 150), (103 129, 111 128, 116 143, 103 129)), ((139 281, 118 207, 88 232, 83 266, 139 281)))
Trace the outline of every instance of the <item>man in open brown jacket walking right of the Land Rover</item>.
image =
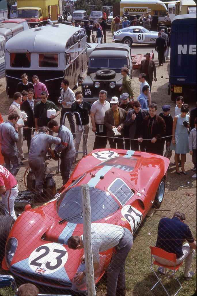
POLYGON ((147 52, 145 55, 146 59, 141 62, 139 73, 145 73, 147 75, 147 83, 150 86, 150 92, 152 88, 152 81, 157 81, 157 71, 155 67, 155 62, 150 59, 150 52, 147 52), (154 77, 154 78, 153 78, 154 77))

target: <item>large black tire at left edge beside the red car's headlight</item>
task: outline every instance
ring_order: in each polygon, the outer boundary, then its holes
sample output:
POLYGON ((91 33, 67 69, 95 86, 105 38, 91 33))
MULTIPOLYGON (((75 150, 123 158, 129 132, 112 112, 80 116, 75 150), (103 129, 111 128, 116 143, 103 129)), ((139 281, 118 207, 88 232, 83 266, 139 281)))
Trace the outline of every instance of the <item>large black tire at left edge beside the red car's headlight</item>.
POLYGON ((14 224, 12 216, 0 216, 0 266, 5 254, 6 240, 14 224))

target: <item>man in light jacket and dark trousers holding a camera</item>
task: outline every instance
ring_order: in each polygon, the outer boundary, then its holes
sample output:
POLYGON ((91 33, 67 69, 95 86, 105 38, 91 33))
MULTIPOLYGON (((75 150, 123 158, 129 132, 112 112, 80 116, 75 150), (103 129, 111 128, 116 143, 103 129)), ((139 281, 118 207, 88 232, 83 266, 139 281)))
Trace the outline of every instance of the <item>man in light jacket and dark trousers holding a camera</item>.
MULTIPOLYGON (((69 81, 64 79, 61 83, 61 96, 58 99, 58 102, 62 104, 60 124, 64 125, 65 120, 63 121, 64 114, 71 111, 71 105, 75 102, 75 94, 69 87, 69 81)), ((73 139, 75 139, 75 122, 73 118, 73 113, 67 114, 68 121, 70 123, 70 130, 73 134, 73 139)))

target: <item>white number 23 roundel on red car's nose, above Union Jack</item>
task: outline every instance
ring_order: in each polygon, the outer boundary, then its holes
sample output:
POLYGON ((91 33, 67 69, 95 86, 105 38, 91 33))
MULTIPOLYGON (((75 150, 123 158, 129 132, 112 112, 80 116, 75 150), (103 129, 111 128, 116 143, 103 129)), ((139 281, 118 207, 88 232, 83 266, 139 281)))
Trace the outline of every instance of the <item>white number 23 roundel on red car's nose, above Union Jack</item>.
POLYGON ((37 247, 29 256, 29 267, 36 274, 50 274, 64 266, 68 252, 55 242, 37 247))

